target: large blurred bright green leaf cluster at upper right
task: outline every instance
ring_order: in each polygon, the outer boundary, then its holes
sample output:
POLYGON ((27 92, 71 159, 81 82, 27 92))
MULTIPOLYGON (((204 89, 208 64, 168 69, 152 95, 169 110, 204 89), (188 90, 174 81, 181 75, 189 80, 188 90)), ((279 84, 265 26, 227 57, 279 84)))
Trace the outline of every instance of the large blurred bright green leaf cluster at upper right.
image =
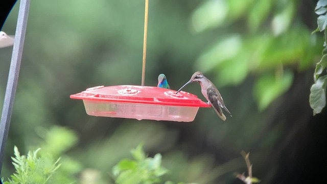
POLYGON ((305 25, 293 21, 296 18, 296 1, 205 2, 194 11, 192 17, 192 26, 196 31, 224 27, 244 17, 247 19, 248 30, 230 26, 234 29, 228 30, 221 37, 217 36, 211 46, 204 49, 196 60, 194 70, 216 73, 220 86, 238 85, 249 74, 256 74, 258 80, 253 86, 253 94, 260 110, 266 109, 290 88, 293 74, 288 66, 295 64, 298 70, 303 70, 311 65, 315 53, 315 36, 310 34, 305 25), (224 5, 220 7, 225 11, 224 7, 228 7, 229 11, 223 12, 224 16, 212 16, 216 17, 215 23, 205 21, 209 12, 218 6, 217 2, 224 5), (279 71, 280 68, 284 71, 279 71), (285 75, 266 75, 274 72, 285 75))

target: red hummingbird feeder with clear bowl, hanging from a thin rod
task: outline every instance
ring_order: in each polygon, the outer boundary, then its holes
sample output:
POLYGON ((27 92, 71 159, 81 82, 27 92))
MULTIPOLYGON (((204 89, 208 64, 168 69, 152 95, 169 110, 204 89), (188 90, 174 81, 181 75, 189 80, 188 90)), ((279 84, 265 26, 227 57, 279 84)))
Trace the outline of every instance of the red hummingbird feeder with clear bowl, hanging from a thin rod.
POLYGON ((199 107, 211 107, 197 96, 153 86, 96 86, 71 95, 84 102, 90 116, 192 122, 199 107))

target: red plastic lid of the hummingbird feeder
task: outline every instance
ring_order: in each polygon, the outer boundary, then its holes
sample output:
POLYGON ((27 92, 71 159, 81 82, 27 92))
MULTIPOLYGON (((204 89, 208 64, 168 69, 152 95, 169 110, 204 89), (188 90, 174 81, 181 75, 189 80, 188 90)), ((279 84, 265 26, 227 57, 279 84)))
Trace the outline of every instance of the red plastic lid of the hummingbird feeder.
POLYGON ((196 95, 175 90, 137 85, 96 86, 81 93, 71 95, 72 99, 95 100, 103 102, 125 102, 171 106, 211 107, 196 95))

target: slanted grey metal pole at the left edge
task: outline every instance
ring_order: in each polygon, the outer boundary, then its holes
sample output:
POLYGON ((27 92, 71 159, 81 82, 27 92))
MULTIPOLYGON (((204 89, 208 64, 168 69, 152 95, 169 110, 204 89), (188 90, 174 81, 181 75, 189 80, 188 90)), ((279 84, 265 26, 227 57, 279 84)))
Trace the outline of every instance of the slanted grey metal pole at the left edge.
POLYGON ((17 18, 17 26, 15 33, 14 48, 11 56, 11 63, 7 81, 7 88, 5 93, 4 106, 2 109, 2 116, 0 122, 0 174, 2 169, 2 163, 4 158, 4 152, 8 137, 8 130, 10 125, 12 106, 15 100, 16 87, 18 81, 18 74, 20 68, 20 61, 22 55, 22 49, 24 46, 27 17, 29 14, 30 0, 21 0, 19 5, 19 12, 17 18))

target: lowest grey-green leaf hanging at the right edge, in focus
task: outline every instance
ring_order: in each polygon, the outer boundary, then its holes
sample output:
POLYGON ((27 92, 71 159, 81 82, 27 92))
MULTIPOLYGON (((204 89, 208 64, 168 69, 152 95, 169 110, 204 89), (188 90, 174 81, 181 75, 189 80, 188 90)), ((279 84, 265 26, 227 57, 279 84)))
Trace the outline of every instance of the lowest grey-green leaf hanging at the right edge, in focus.
POLYGON ((313 109, 313 115, 320 113, 326 105, 326 86, 327 75, 319 77, 317 82, 310 89, 310 106, 313 109))

